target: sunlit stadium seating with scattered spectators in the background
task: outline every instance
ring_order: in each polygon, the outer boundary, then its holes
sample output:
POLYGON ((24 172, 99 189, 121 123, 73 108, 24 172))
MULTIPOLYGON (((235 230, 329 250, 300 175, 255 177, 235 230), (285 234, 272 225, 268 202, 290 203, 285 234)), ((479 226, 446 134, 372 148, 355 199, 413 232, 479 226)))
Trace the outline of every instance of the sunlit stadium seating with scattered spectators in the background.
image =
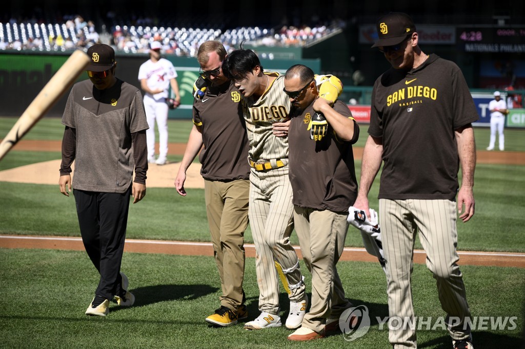
MULTIPOLYGON (((117 20, 111 13, 107 16, 113 21, 117 20)), ((165 53, 193 57, 199 45, 206 40, 219 40, 230 50, 237 48, 242 41, 267 46, 297 46, 337 30, 324 25, 313 28, 283 26, 280 30, 159 26, 156 25, 158 20, 147 16, 135 18, 131 23, 114 25, 110 32, 104 30, 99 34, 95 23, 86 21, 80 15, 65 15, 56 23, 45 23, 34 17, 24 20, 11 18, 0 23, 0 50, 68 51, 103 42, 112 45, 117 51, 135 53, 147 52, 152 41, 160 41, 165 53)))

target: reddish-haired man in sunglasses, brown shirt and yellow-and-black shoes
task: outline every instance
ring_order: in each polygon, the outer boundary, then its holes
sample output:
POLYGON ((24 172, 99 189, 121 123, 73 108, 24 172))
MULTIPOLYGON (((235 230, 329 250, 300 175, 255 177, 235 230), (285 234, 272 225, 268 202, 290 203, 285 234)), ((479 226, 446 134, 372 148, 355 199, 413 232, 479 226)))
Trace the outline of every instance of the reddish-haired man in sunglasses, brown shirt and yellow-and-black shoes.
POLYGON ((197 52, 197 60, 207 80, 206 93, 193 103, 190 138, 175 179, 175 188, 183 196, 186 170, 201 150, 199 161, 204 177, 204 197, 209 231, 223 294, 220 308, 206 318, 216 326, 235 325, 247 318, 243 291, 244 232, 248 226, 250 167, 248 136, 240 95, 220 64, 226 49, 219 41, 206 41, 197 52))

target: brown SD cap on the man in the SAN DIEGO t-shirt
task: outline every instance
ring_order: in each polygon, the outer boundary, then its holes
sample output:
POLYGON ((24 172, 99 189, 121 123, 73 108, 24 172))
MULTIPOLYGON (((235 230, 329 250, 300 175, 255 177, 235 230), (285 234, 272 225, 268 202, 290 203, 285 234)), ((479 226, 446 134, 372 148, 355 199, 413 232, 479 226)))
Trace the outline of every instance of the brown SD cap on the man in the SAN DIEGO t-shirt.
POLYGON ((406 13, 391 12, 377 21, 377 40, 372 47, 393 46, 416 31, 414 21, 406 13))

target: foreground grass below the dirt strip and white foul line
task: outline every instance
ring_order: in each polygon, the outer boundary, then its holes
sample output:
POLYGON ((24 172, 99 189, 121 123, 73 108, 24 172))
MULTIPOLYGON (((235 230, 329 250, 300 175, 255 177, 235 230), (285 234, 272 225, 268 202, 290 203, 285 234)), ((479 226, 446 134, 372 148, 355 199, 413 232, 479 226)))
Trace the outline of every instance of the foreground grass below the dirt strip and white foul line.
MULTIPOLYGON (((341 262, 346 297, 369 309, 370 331, 347 343, 342 335, 309 343, 288 343, 284 326, 245 331, 241 325, 217 329, 204 319, 218 308, 218 274, 212 257, 126 253, 122 270, 137 300, 131 308, 111 304, 107 318, 86 317, 97 272, 83 252, 0 249, 0 334, 2 347, 93 348, 388 348, 387 332, 377 317, 388 315, 386 281, 378 264, 341 262), (72 281, 74 280, 74 281, 72 281)), ((301 263, 306 283, 310 276, 301 263)), ((464 266, 473 317, 517 317, 514 330, 474 332, 477 348, 518 347, 523 326, 523 274, 514 268, 464 266)), ((255 260, 248 258, 244 288, 249 319, 258 315, 255 260)), ((440 310, 435 281, 423 265, 414 266, 416 314, 437 319, 440 310)), ((309 292, 308 288, 308 292, 309 292)), ((281 304, 287 308, 281 293, 281 304)), ((286 309, 287 310, 287 309, 286 309)), ((281 313, 283 320, 287 312, 281 313)), ((436 320, 434 320, 436 321, 436 320)), ((434 322, 433 322, 434 323, 434 322)), ((422 348, 451 347, 443 330, 417 331, 422 348)))

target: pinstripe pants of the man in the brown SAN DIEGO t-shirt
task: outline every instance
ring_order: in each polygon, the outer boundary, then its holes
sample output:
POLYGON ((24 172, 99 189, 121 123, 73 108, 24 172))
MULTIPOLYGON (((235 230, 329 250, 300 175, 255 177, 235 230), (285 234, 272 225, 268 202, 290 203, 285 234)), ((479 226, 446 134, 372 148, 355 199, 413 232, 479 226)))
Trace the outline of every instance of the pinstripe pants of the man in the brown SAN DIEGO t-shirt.
MULTIPOLYGON (((470 317, 463 276, 456 253, 456 203, 450 200, 379 200, 379 219, 386 260, 388 315, 391 319, 414 321, 411 275, 414 239, 427 255, 426 265, 436 279, 439 301, 449 317, 461 319, 450 328, 452 339, 466 339, 470 328, 464 319, 470 317)), ((397 326, 392 326, 397 328, 397 326)), ((415 348, 416 333, 411 326, 390 329, 388 340, 395 349, 415 348), (406 328, 405 328, 406 327, 406 328)))

